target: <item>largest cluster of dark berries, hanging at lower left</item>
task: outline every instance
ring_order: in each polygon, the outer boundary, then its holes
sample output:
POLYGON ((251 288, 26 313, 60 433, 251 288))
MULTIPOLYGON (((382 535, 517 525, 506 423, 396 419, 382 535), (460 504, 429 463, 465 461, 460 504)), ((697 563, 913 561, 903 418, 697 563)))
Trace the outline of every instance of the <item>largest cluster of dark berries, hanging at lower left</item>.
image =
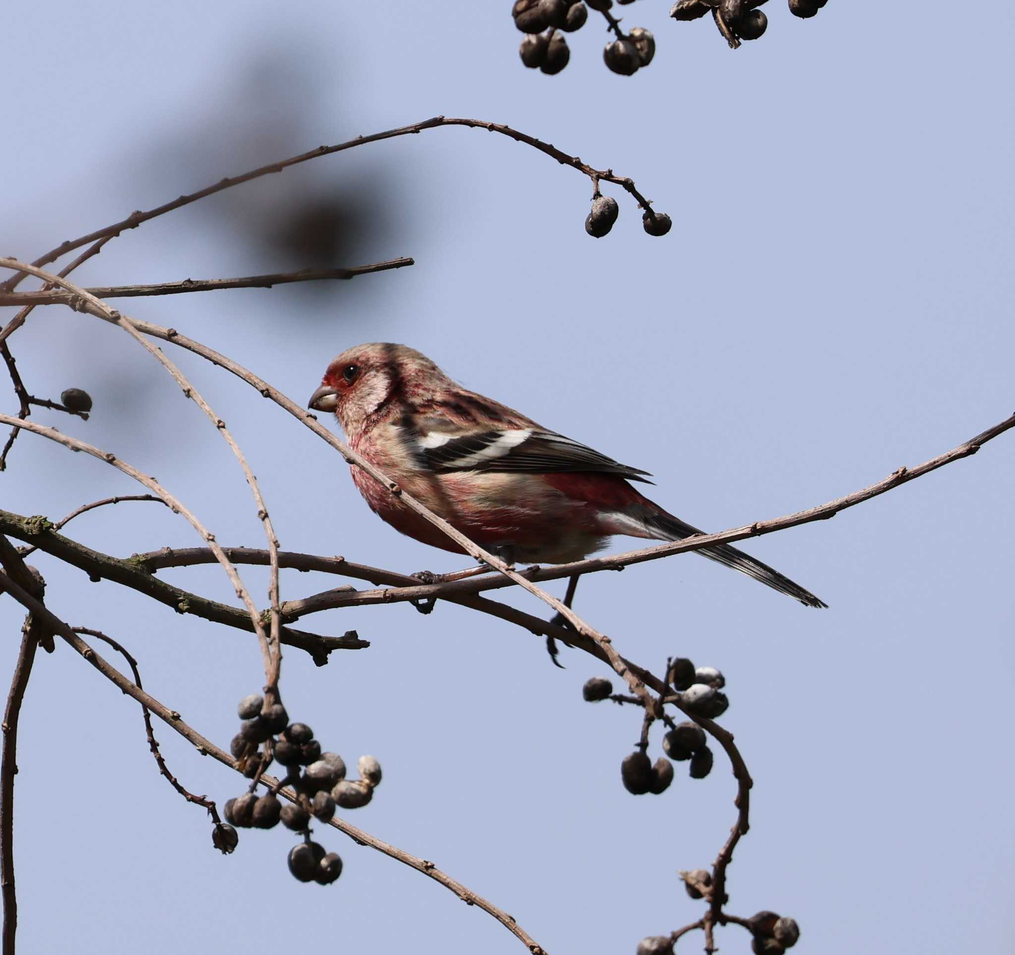
POLYGON ((365 806, 381 782, 381 764, 373 756, 360 756, 356 764, 360 778, 346 779, 342 757, 322 752, 314 731, 304 723, 289 723, 281 703, 255 693, 240 701, 238 712, 243 723, 229 748, 243 774, 254 781, 247 793, 225 804, 226 820, 233 826, 258 829, 271 829, 281 822, 302 833, 303 841, 289 852, 289 871, 300 882, 334 882, 341 875, 342 860, 311 841, 311 817, 327 823, 336 805, 343 809, 365 806), (258 796, 257 781, 272 760, 285 767, 285 775, 271 792, 258 796), (296 791, 294 803, 283 806, 279 801, 277 793, 283 786, 296 791))

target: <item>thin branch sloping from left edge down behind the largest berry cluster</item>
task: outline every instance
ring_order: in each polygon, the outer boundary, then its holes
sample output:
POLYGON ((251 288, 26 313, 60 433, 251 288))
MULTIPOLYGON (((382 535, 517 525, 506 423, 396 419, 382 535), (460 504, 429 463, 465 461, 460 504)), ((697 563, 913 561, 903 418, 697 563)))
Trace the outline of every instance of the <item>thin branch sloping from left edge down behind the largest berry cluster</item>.
MULTIPOLYGON (((0 573, 0 590, 5 590, 10 593, 11 596, 28 609, 30 613, 38 613, 41 617, 43 617, 55 633, 59 633, 60 636, 62 636, 78 654, 80 654, 99 673, 101 673, 103 676, 118 686, 126 694, 133 696, 134 699, 141 703, 142 706, 147 707, 166 726, 192 743, 202 756, 211 756, 223 765, 228 766, 230 769, 239 771, 236 760, 234 760, 228 753, 219 749, 209 739, 202 736, 192 727, 188 726, 179 712, 174 709, 170 709, 167 706, 160 703, 149 693, 146 693, 143 689, 137 686, 132 680, 120 673, 109 662, 96 654, 63 620, 47 610, 46 607, 14 584, 9 577, 6 576, 6 574, 0 573)), ((262 776, 261 781, 269 788, 274 788, 278 783, 277 779, 268 775, 262 776)), ((292 801, 295 799, 295 794, 291 790, 281 789, 278 792, 279 795, 283 796, 285 799, 292 801)), ((482 908, 485 912, 488 912, 496 918, 496 920, 507 929, 507 931, 511 932, 516 938, 521 940, 522 943, 528 947, 532 955, 546 955, 545 950, 527 932, 525 932, 521 926, 518 925, 512 915, 497 908, 497 906, 492 902, 489 902, 482 896, 477 895, 471 889, 466 888, 460 882, 452 879, 447 873, 437 869, 433 863, 428 862, 425 859, 419 859, 415 856, 411 856, 410 854, 370 835, 368 832, 364 832, 362 829, 350 825, 338 817, 333 818, 330 825, 334 826, 340 832, 344 832, 360 845, 368 845, 370 848, 377 849, 378 851, 381 851, 384 855, 389 856, 392 859, 396 859, 400 863, 415 869, 417 872, 423 873, 423 875, 428 876, 430 879, 433 879, 435 882, 450 889, 467 905, 476 905, 482 908)))

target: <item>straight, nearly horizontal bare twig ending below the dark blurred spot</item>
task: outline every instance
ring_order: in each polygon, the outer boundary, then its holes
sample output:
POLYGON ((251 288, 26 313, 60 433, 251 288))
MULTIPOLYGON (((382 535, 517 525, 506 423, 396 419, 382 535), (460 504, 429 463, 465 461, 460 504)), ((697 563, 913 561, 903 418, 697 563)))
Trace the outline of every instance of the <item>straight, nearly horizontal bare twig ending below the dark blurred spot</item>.
MULTIPOLYGON (((144 295, 178 295, 183 292, 207 292, 224 288, 271 288, 273 285, 285 285, 291 282, 316 282, 321 279, 350 279, 357 275, 367 275, 371 272, 387 272, 391 269, 401 269, 407 265, 415 265, 414 259, 388 259, 385 262, 375 262, 373 265, 356 265, 350 268, 337 269, 302 269, 299 272, 273 272, 267 275, 249 275, 245 278, 213 278, 192 279, 182 282, 162 282, 157 285, 97 285, 85 288, 84 291, 96 298, 134 298, 144 295)), ((51 283, 47 283, 49 285, 51 283)), ((78 301, 73 292, 49 291, 37 292, 4 292, 0 291, 0 306, 2 305, 73 305, 78 301)), ((2 343, 0 343, 2 344, 2 343)), ((6 345, 2 347, 5 349, 6 345)))

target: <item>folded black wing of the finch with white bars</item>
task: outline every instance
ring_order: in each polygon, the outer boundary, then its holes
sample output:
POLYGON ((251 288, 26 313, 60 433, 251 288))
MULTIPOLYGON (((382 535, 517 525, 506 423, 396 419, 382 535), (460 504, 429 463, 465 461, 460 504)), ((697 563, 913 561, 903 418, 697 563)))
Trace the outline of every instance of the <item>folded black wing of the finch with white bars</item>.
POLYGON ((649 474, 535 426, 466 434, 433 429, 418 432, 413 440, 419 461, 431 471, 597 471, 633 481, 646 481, 649 474))

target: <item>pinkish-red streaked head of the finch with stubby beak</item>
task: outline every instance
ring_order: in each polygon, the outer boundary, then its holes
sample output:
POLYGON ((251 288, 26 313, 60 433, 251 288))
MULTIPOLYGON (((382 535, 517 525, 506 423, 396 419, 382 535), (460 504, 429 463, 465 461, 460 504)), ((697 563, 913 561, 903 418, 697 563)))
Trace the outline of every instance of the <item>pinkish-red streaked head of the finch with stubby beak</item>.
POLYGON ((308 407, 334 412, 351 436, 370 416, 432 394, 446 381, 444 372, 414 348, 370 342, 348 348, 332 360, 308 407))

